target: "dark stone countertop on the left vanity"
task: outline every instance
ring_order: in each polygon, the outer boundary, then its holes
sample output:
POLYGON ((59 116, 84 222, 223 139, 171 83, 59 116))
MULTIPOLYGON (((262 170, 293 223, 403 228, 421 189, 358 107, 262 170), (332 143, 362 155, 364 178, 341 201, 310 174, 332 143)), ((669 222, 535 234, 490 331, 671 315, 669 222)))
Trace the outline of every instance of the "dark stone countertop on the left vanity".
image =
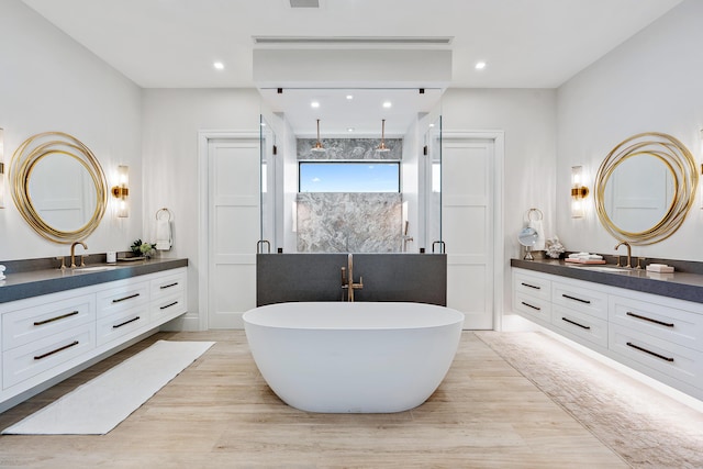
POLYGON ((149 259, 118 264, 92 264, 88 269, 65 270, 57 268, 5 272, 0 280, 0 303, 105 283, 163 270, 188 266, 188 259, 149 259), (90 271, 90 268, 108 267, 108 270, 90 271))

